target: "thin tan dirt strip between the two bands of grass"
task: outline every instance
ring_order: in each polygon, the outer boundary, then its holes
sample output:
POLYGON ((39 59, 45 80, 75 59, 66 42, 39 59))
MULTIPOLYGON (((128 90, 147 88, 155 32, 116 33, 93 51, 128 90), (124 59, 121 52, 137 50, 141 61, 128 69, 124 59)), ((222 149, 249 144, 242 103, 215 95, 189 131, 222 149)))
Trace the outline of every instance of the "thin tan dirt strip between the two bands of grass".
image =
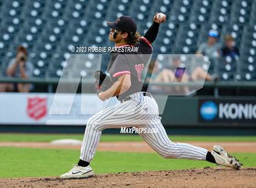
MULTIPOLYGON (((250 152, 256 153, 255 142, 188 142, 194 146, 204 147, 212 150, 216 144, 224 147, 228 152, 250 152)), ((53 145, 50 143, 32 142, 0 142, 0 146, 32 147, 32 148, 52 148, 52 149, 80 149, 80 146, 53 145)), ((119 142, 100 142, 99 151, 112 152, 154 152, 151 147, 143 141, 119 141, 119 142)))

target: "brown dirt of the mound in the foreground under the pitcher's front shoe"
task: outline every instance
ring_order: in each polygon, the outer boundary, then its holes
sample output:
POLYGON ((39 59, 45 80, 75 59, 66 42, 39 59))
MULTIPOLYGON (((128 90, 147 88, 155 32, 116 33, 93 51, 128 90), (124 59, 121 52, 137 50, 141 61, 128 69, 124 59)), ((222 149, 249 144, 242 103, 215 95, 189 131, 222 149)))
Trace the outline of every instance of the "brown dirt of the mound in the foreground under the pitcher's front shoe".
POLYGON ((1 187, 256 187, 256 168, 110 173, 82 180, 3 178, 1 187))

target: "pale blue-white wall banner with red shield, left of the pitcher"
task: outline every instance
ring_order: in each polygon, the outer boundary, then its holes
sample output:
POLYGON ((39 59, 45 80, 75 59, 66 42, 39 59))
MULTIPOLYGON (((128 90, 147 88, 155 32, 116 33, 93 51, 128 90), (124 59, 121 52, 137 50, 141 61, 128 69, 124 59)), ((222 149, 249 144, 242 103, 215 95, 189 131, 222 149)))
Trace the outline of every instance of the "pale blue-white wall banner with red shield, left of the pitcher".
POLYGON ((96 94, 76 94, 73 100, 73 94, 59 95, 56 98, 54 93, 0 93, 0 124, 84 126, 88 118, 110 105, 96 94))

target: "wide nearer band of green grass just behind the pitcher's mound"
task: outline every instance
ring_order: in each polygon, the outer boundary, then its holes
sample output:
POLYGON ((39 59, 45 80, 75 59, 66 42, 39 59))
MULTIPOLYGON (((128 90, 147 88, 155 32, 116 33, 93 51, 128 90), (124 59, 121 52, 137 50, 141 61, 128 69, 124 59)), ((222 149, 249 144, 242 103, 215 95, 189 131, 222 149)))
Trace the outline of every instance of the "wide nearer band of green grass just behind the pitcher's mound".
MULTIPOLYGON (((240 158, 244 166, 256 166, 255 153, 232 154, 240 158)), ((71 169, 78 159, 79 150, 1 147, 0 177, 58 176, 71 169)), ((215 164, 187 159, 164 159, 157 153, 96 152, 91 166, 99 174, 215 167, 215 164)))

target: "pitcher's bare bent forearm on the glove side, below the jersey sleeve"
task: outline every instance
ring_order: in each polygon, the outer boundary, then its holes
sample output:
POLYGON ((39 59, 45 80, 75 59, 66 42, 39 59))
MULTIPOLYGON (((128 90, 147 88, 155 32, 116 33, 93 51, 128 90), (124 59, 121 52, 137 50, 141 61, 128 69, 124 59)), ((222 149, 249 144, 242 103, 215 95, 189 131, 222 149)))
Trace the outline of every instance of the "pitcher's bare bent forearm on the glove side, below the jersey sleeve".
POLYGON ((105 90, 105 92, 99 93, 98 96, 102 101, 105 101, 106 99, 112 96, 123 94, 130 88, 130 86, 131 86, 130 75, 129 74, 122 75, 122 76, 119 76, 118 80, 110 88, 105 90))

